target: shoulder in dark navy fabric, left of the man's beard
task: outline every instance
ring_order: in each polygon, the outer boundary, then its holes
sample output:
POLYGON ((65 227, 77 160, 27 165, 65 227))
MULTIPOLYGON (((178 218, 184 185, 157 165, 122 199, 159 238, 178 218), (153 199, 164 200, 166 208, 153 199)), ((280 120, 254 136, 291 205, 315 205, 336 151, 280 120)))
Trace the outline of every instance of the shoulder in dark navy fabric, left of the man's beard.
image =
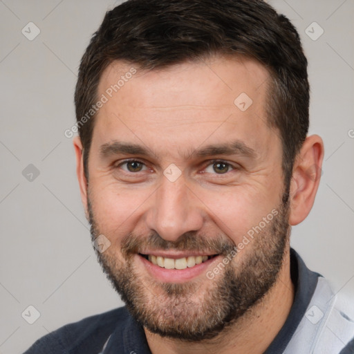
POLYGON ((123 328, 128 319, 125 307, 86 317, 41 337, 24 354, 97 354, 113 330, 123 328))

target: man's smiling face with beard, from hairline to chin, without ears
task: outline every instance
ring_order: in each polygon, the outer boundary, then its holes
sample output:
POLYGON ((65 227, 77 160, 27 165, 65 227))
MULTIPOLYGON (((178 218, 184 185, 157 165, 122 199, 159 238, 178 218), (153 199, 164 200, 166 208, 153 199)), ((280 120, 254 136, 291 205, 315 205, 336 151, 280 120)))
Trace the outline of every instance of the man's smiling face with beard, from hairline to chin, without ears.
POLYGON ((95 118, 88 211, 93 239, 111 242, 100 263, 148 330, 213 337, 274 285, 288 241, 268 72, 221 57, 130 69, 113 63, 98 88, 109 100, 95 118))

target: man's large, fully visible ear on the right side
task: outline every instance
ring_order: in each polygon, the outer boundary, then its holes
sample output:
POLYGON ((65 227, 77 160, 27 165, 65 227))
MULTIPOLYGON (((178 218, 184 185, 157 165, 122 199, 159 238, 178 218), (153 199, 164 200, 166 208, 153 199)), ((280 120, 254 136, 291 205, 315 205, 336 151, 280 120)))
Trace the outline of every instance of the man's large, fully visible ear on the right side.
POLYGON ((324 143, 317 135, 308 136, 295 159, 290 183, 290 225, 304 221, 310 213, 322 175, 324 143))

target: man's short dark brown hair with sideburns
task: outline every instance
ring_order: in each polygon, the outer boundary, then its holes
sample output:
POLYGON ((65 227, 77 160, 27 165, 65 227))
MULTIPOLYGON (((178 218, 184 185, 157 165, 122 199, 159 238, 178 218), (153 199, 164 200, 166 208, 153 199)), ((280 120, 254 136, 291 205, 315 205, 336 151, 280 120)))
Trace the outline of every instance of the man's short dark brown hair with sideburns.
MULTIPOLYGON (((102 72, 115 60, 153 70, 212 55, 252 57, 270 72, 268 124, 280 132, 288 185, 308 132, 307 60, 295 27, 261 0, 128 0, 106 12, 80 64, 77 122, 97 102, 102 72)), ((94 122, 79 126, 86 178, 94 122)))

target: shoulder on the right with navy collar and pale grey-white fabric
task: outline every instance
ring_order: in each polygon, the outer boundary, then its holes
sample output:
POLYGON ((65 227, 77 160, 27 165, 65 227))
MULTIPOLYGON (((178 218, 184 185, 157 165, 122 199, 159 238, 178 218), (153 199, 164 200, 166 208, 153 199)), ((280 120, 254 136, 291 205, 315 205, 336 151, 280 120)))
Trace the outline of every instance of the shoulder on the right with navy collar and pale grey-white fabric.
POLYGON ((294 328, 295 320, 299 322, 285 353, 351 353, 353 301, 335 292, 328 279, 310 271, 294 250, 291 254, 297 292, 290 310, 292 316, 289 315, 286 324, 290 323, 290 328, 294 328))

